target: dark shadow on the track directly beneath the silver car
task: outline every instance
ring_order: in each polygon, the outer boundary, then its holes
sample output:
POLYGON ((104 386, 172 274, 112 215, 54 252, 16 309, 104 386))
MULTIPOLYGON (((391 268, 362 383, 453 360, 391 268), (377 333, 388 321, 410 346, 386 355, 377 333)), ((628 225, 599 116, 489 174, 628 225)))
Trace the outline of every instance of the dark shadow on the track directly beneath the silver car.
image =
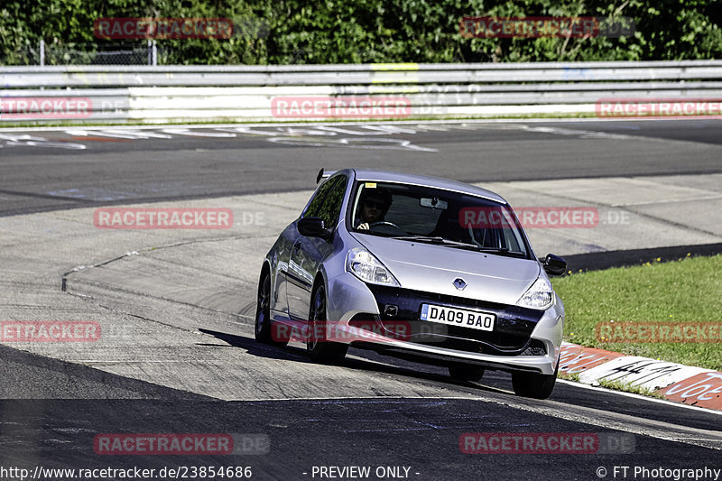
MULTIPOLYGON (((200 332, 218 338, 227 342, 230 346, 245 349, 246 354, 251 356, 267 357, 272 359, 282 359, 286 361, 294 361, 304 364, 312 364, 310 358, 306 355, 306 349, 302 347, 286 346, 277 347, 259 343, 254 338, 246 338, 235 334, 227 334, 216 330, 200 328, 200 332)), ((378 356, 374 351, 366 351, 362 349, 354 349, 354 356, 378 356)), ((383 356, 383 355, 382 355, 383 356)), ((451 379, 449 375, 442 375, 430 372, 421 372, 417 370, 417 365, 411 361, 398 360, 394 357, 384 356, 389 360, 398 361, 405 366, 384 364, 386 359, 365 360, 358 358, 346 357, 338 367, 347 369, 355 369, 365 372, 373 372, 385 375, 396 375, 404 378, 414 378, 419 381, 430 382, 433 384, 444 384, 448 387, 457 386, 463 388, 463 391, 474 393, 475 391, 486 391, 489 393, 510 394, 508 391, 498 389, 493 386, 471 383, 466 381, 456 381, 451 379)), ((439 387, 437 385, 437 387, 439 387)), ((513 394, 512 394, 513 395, 513 394)))

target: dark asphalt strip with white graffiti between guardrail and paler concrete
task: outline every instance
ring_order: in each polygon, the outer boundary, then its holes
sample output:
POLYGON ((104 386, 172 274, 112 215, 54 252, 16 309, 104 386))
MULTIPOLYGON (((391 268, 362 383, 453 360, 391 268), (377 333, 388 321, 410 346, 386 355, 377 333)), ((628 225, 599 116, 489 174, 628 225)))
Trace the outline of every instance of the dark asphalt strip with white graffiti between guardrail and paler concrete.
POLYGON ((720 168, 717 120, 423 126, 0 132, 0 213, 309 190, 315 181, 309 173, 321 167, 414 171, 468 182, 720 168))

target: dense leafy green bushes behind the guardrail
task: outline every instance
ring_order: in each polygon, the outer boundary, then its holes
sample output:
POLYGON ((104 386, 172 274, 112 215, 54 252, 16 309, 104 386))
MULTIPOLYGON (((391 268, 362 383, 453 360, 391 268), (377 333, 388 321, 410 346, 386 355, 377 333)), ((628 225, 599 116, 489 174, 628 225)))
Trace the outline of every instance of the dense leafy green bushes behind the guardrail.
MULTIPOLYGON (((95 51, 123 43, 97 39, 102 17, 228 17, 230 39, 159 40, 172 64, 514 62, 714 59, 722 53, 716 0, 5 0, 0 64, 38 61, 49 50, 95 51), (634 18, 633 36, 589 39, 464 38, 465 16, 634 18)), ((124 41, 124 45, 127 41, 124 41)), ((133 41, 143 48, 144 41, 133 41)), ((50 57, 49 63, 67 58, 50 57)))

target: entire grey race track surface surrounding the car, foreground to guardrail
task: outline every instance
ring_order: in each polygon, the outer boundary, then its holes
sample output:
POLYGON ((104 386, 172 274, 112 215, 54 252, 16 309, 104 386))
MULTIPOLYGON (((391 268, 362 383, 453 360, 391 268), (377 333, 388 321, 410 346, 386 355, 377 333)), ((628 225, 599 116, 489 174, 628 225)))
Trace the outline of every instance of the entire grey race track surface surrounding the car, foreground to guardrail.
POLYGON ((443 368, 355 348, 331 366, 310 363, 300 344, 255 343, 260 260, 320 167, 481 182, 515 206, 596 206, 606 219, 596 229, 530 232, 537 254, 573 255, 579 268, 660 249, 718 253, 722 243, 717 120, 5 129, 0 320, 93 320, 102 336, 0 344, 0 467, 251 467, 252 479, 290 481, 722 469, 717 412, 568 382, 532 401, 514 396, 503 373, 457 383, 443 368), (236 223, 93 226, 95 208, 126 205, 221 206, 236 223), (631 221, 618 226, 623 212, 631 221), (577 456, 463 453, 462 435, 480 432, 596 433, 623 444, 577 456), (103 433, 264 442, 224 456, 113 456, 94 449, 103 433))

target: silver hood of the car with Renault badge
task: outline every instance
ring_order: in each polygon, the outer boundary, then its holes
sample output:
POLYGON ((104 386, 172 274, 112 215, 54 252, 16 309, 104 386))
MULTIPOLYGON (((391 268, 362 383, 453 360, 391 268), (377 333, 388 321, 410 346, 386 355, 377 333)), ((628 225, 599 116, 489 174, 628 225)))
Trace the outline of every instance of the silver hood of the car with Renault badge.
POLYGON ((354 235, 401 282, 404 289, 479 301, 516 304, 541 272, 537 261, 484 254, 445 245, 354 235), (454 286, 457 278, 467 286, 454 286))

